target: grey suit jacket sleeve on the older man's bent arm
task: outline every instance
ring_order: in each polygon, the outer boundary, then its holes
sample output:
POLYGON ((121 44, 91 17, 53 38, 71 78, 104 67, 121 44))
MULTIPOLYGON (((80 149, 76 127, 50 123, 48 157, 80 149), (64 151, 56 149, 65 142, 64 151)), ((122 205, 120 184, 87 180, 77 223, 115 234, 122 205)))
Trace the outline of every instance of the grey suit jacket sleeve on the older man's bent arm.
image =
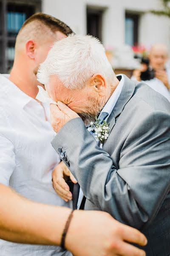
POLYGON ((80 118, 68 122, 52 145, 65 151, 85 197, 132 227, 147 227, 170 190, 170 115, 163 111, 136 123, 120 152, 119 169, 80 118))

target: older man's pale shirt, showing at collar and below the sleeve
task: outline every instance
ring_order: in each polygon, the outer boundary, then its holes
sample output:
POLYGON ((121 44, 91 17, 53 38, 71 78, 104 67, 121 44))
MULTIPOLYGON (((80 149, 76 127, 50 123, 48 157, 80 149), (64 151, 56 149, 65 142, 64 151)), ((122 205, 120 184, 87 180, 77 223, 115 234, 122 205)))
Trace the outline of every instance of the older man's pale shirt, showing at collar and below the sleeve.
MULTIPOLYGON (((123 85, 124 85, 124 82, 125 82, 125 77, 123 76, 123 74, 119 74, 117 76, 122 76, 122 78, 121 78, 118 86, 116 87, 116 89, 112 93, 111 97, 108 99, 108 102, 105 104, 105 107, 100 112, 100 115, 103 112, 108 113, 108 116, 105 119, 106 122, 107 122, 109 116, 111 115, 111 112, 112 112, 114 106, 116 105, 116 102, 119 99, 120 93, 122 92, 122 88, 123 88, 123 85)), ((100 119, 100 115, 99 115, 99 119, 100 119)), ((82 189, 80 188, 80 190, 79 190, 79 198, 78 198, 78 202, 77 202, 77 209, 79 209, 79 207, 81 206, 82 198, 83 198, 83 192, 82 192, 82 189)))

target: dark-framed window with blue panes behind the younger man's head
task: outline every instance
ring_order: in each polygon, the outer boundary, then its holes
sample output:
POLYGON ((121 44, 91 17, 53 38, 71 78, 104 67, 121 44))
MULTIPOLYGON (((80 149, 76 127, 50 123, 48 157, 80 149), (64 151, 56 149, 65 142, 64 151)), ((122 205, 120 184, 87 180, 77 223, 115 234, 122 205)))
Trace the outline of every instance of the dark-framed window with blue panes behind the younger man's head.
POLYGON ((24 21, 40 10, 40 0, 0 0, 0 73, 10 72, 17 33, 24 21))

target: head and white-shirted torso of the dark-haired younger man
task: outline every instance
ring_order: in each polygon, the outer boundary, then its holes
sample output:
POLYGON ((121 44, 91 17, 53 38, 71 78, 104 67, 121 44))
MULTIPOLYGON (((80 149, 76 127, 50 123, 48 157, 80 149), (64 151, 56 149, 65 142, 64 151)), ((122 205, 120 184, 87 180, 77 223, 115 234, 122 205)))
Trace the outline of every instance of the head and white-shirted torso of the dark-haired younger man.
MULTIPOLYGON (((72 30, 54 17, 42 13, 31 16, 17 35, 10 76, 0 75, 0 183, 31 200, 66 207, 69 203, 59 198, 51 182, 51 173, 60 159, 51 145, 55 133, 49 122, 49 105, 35 98, 40 63, 54 41, 70 33, 72 30)), ((56 246, 0 240, 3 256, 54 254, 70 255, 56 246)))

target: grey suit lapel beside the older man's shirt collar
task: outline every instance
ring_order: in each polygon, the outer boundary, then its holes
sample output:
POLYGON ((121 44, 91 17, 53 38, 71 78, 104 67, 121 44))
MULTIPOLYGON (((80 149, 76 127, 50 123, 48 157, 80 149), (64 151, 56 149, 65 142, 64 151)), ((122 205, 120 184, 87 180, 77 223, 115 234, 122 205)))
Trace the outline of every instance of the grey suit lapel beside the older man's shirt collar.
MULTIPOLYGON (((125 78, 125 81, 122 88, 122 92, 120 93, 119 99, 117 100, 116 105, 114 106, 113 111, 111 112, 111 115, 108 118, 108 123, 110 123, 109 134, 111 133, 116 123, 116 117, 119 116, 120 113, 122 113, 123 109, 125 108, 125 105, 131 99, 135 90, 135 83, 132 80, 130 80, 127 76, 123 76, 125 78)), ((117 76, 117 79, 119 79, 120 81, 121 76, 117 76)))

